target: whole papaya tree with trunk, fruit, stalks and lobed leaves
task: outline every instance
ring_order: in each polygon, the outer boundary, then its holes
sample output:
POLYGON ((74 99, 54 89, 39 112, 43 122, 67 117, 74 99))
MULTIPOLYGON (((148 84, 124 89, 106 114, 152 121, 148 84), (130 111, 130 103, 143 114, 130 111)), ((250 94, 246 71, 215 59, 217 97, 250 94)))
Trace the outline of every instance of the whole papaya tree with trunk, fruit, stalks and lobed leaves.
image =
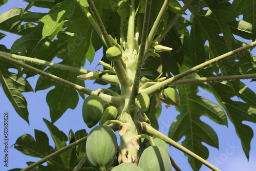
POLYGON ((181 170, 167 144, 185 153, 193 170, 202 164, 220 170, 206 161, 202 142, 218 148, 218 136, 201 116, 222 125, 229 119, 249 158, 253 131, 242 121, 256 122, 256 95, 241 79, 256 78, 253 1, 25 2, 25 8, 0 15, 0 30, 20 36, 10 49, 5 42, 0 46, 0 82, 28 123, 23 93, 54 87, 46 97, 51 121, 44 122, 55 148, 39 130, 35 139, 20 136, 14 147, 41 159, 12 170, 181 170), (34 7, 48 12, 32 12, 34 7), (99 50, 102 70, 83 69, 99 50), (61 61, 53 62, 56 57, 61 61), (29 78, 36 75, 33 90, 29 78), (86 87, 87 80, 102 88, 86 87), (219 104, 199 96, 200 89, 219 104), (54 123, 76 108, 79 96, 84 99, 80 115, 92 130, 65 135, 54 123), (158 131, 162 106, 180 113, 168 136, 158 131))

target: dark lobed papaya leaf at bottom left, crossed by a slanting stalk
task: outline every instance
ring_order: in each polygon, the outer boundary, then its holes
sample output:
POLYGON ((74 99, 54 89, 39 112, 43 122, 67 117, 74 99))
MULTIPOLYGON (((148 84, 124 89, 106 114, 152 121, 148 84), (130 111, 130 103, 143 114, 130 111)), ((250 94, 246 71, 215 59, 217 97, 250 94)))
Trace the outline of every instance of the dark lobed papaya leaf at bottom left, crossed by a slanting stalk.
MULTIPOLYGON (((52 135, 55 146, 58 146, 59 148, 66 146, 66 142, 68 140, 67 136, 62 131, 59 131, 58 128, 48 120, 44 119, 44 121, 47 124, 47 127, 52 135)), ((78 140, 86 135, 87 133, 85 130, 80 130, 80 131, 77 131, 73 136, 75 140, 78 140)), ((86 149, 85 146, 82 146, 82 147, 83 147, 82 149, 86 149)), ((16 143, 14 144, 14 148, 16 148, 18 151, 22 152, 25 155, 39 157, 39 158, 44 158, 57 150, 56 147, 54 149, 52 146, 49 145, 49 138, 46 135, 46 133, 38 130, 35 130, 35 139, 29 134, 24 134, 20 136, 16 140, 16 143)), ((48 170, 65 171, 67 169, 73 169, 78 164, 79 160, 82 157, 80 156, 79 158, 79 155, 78 155, 79 153, 77 152, 77 149, 81 149, 80 145, 75 148, 69 149, 68 151, 52 159, 49 159, 47 161, 47 166, 39 165, 38 167, 36 167, 36 170, 38 169, 38 170, 45 170, 45 171, 48 171, 48 170)), ((85 151, 83 151, 83 154, 84 152, 85 151)), ((32 163, 34 162, 27 162, 28 165, 32 163)), ((80 170, 92 171, 93 169, 87 161, 86 163, 83 164, 80 170)))

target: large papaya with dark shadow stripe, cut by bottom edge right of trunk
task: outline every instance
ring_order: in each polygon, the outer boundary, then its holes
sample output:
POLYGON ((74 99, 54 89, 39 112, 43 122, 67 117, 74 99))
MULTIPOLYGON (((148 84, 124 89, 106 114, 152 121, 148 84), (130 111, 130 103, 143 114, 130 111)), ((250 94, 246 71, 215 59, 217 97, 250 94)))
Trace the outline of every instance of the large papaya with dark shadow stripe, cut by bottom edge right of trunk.
POLYGON ((140 156, 138 166, 144 171, 172 171, 172 163, 161 146, 149 146, 140 156))

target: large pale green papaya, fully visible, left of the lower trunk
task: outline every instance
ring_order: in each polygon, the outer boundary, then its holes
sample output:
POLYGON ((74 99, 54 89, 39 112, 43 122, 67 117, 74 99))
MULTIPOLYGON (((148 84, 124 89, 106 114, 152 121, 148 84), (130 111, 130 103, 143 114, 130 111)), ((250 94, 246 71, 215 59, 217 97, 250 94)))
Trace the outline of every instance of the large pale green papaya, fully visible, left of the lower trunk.
POLYGON ((86 141, 86 155, 90 165, 97 171, 108 169, 117 153, 117 138, 114 131, 104 125, 95 126, 86 141))

